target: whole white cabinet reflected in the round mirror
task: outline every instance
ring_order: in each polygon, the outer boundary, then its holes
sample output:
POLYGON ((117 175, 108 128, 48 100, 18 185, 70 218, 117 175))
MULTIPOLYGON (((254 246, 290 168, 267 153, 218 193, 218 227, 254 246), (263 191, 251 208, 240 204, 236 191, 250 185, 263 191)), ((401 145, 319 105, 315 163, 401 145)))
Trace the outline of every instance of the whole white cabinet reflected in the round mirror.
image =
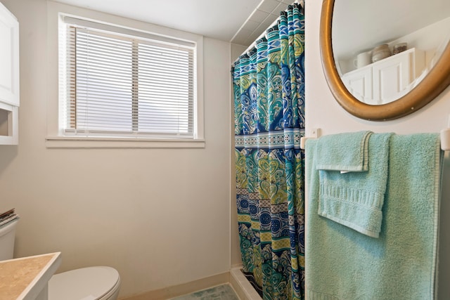
POLYGON ((347 89, 361 102, 390 103, 412 89, 425 70, 425 53, 411 48, 342 76, 347 89))

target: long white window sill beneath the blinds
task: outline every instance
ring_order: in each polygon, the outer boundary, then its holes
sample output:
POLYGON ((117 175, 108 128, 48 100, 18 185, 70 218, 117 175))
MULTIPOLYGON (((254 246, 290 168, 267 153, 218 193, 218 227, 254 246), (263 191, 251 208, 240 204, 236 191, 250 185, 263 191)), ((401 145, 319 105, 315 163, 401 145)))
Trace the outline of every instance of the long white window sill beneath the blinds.
POLYGON ((205 140, 47 136, 46 148, 205 148, 205 140))

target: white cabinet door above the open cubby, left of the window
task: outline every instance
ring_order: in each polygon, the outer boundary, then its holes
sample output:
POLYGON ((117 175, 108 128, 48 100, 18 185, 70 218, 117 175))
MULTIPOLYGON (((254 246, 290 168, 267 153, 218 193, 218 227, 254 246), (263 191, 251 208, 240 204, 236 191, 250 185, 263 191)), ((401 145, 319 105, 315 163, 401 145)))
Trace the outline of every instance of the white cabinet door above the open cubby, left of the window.
POLYGON ((19 23, 1 3, 0 102, 19 106, 19 23))

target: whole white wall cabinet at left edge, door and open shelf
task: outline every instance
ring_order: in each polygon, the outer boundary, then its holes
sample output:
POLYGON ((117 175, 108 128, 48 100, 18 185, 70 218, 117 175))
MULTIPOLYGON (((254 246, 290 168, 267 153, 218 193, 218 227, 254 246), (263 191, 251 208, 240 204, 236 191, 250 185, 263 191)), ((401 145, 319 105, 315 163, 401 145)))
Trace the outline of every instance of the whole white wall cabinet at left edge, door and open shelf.
POLYGON ((18 144, 19 22, 0 3, 0 145, 18 144))

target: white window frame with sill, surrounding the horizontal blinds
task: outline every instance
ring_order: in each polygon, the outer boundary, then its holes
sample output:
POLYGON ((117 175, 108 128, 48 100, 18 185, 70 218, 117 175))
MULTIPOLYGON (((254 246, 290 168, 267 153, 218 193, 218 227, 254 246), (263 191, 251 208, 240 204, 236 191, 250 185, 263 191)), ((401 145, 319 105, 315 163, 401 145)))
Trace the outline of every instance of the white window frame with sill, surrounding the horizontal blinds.
POLYGON ((203 115, 203 36, 181 32, 167 27, 152 25, 127 18, 90 11, 84 8, 49 2, 47 6, 48 32, 47 47, 49 60, 49 97, 47 101, 47 148, 205 148, 203 115), (195 77, 193 106, 193 138, 158 138, 148 136, 71 136, 63 132, 60 115, 63 110, 59 99, 59 27, 64 18, 77 18, 86 22, 96 22, 107 27, 117 27, 125 32, 131 30, 144 36, 164 39, 178 39, 195 44, 195 77))

